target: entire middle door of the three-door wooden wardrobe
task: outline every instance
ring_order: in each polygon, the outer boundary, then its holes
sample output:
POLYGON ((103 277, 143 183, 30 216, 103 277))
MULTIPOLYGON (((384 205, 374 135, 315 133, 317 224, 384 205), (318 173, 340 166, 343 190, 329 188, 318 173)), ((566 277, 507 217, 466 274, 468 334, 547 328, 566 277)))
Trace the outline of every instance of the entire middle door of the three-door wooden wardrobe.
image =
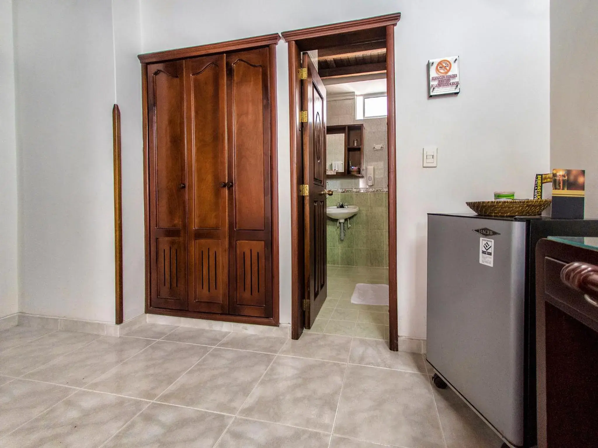
POLYGON ((189 309, 228 312, 224 54, 185 60, 189 309))

